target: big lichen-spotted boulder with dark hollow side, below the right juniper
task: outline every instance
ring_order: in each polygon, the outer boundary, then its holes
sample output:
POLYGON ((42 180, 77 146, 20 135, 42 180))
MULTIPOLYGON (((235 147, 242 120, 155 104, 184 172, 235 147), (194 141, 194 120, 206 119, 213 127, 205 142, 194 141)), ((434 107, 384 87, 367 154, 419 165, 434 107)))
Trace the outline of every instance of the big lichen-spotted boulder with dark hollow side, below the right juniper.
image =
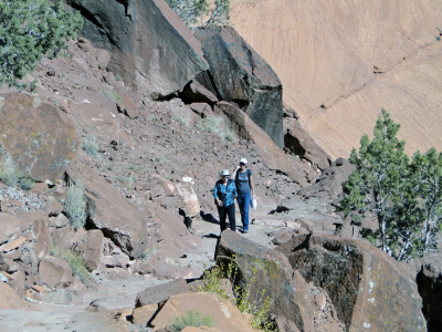
POLYGON ((347 331, 425 331, 415 284, 383 251, 325 235, 296 236, 276 250, 328 292, 347 331))

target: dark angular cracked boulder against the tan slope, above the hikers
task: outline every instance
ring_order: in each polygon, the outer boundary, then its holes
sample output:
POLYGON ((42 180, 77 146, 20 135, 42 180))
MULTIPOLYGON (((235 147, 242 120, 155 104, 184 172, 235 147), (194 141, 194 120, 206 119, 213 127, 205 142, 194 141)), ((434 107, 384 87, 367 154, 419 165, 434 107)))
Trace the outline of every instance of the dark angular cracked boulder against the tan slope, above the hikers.
POLYGON ((214 86, 207 79, 200 83, 214 90, 220 100, 236 103, 283 148, 283 87, 272 68, 231 27, 201 28, 194 35, 214 86))

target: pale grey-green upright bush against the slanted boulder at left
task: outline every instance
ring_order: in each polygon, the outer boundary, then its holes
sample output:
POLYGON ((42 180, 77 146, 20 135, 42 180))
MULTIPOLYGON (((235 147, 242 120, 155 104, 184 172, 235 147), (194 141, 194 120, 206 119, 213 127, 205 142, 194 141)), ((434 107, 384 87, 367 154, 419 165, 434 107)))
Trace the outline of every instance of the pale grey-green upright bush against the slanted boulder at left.
POLYGON ((84 185, 80 180, 67 185, 67 196, 63 209, 71 226, 75 229, 83 228, 86 224, 86 203, 84 201, 83 190, 84 185))

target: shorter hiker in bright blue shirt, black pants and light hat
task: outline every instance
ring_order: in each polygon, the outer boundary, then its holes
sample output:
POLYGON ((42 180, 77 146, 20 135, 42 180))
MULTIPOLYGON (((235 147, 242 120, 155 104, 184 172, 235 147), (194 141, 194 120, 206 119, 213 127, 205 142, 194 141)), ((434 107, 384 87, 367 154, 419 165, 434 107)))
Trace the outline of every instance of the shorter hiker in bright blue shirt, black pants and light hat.
POLYGON ((221 179, 214 185, 213 197, 220 215, 221 231, 227 228, 227 216, 229 216, 230 229, 235 231, 234 198, 238 196, 236 186, 234 180, 230 178, 228 169, 223 169, 220 176, 221 179))

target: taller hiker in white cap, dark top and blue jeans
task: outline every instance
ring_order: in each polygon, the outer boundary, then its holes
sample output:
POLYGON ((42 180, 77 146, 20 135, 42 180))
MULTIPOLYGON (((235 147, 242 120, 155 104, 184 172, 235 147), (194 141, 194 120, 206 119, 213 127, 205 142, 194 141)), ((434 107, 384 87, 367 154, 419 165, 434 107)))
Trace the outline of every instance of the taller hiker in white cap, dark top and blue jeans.
POLYGON ((230 176, 235 180, 238 191, 238 206, 241 212, 242 232, 249 232, 249 207, 250 200, 255 198, 255 186, 253 184, 252 170, 248 169, 248 159, 241 158, 236 169, 230 176))

